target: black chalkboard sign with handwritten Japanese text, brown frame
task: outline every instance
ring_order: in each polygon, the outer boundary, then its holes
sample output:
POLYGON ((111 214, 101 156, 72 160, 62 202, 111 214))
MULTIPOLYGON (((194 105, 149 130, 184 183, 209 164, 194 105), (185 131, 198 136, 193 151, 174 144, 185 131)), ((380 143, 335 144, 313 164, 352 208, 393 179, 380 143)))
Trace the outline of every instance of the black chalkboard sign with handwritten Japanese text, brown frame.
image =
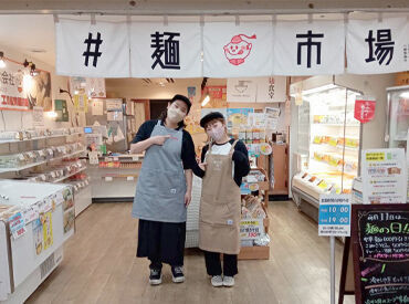
POLYGON ((353 205, 358 304, 409 303, 409 205, 353 205))

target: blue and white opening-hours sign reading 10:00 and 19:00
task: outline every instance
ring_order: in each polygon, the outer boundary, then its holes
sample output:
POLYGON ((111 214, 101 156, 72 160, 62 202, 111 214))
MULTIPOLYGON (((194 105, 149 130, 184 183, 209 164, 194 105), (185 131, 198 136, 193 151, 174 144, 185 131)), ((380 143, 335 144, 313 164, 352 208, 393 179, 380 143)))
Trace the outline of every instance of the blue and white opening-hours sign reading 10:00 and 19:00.
POLYGON ((319 196, 318 235, 319 237, 350 235, 349 195, 319 196))

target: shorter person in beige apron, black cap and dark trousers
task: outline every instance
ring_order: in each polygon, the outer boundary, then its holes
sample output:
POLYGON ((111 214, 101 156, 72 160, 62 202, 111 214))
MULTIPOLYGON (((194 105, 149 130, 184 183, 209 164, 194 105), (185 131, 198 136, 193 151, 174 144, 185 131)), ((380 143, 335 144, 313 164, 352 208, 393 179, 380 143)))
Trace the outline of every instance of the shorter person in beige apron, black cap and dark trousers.
POLYGON ((213 286, 233 286, 240 252, 242 178, 250 171, 245 145, 230 139, 221 113, 212 112, 200 120, 211 138, 201 155, 204 171, 199 213, 199 248, 213 286), (223 253, 223 269, 220 253, 223 253))

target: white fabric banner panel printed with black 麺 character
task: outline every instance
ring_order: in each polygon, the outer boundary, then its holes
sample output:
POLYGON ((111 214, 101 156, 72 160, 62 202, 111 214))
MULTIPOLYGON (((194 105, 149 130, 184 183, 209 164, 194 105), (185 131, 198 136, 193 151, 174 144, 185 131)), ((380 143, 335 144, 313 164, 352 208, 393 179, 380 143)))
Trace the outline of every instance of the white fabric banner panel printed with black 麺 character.
POLYGON ((202 71, 200 23, 133 22, 133 77, 198 77, 202 71))

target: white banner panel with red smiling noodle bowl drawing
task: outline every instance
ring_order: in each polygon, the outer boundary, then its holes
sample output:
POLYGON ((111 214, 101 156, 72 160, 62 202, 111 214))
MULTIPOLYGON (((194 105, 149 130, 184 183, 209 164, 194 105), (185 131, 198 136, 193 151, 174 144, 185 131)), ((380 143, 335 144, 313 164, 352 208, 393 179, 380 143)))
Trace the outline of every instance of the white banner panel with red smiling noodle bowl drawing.
MULTIPOLYGON (((209 22, 203 27, 203 74, 266 76, 273 70, 271 22, 209 22)), ((228 97, 229 101, 229 97, 228 97)))

